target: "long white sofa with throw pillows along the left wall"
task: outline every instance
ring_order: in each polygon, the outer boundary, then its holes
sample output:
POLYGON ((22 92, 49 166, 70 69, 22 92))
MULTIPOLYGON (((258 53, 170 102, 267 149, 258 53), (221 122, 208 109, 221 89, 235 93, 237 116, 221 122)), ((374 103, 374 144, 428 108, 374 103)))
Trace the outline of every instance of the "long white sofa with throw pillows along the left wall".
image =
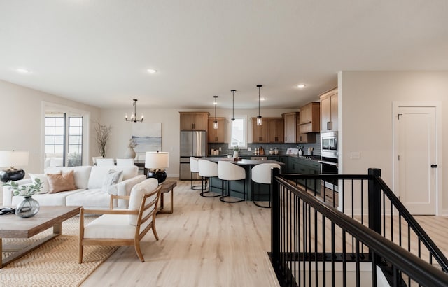
MULTIPOLYGON (((139 175, 137 166, 80 166, 80 167, 48 167, 45 174, 55 174, 58 172, 69 172, 73 169, 73 177, 76 190, 62 191, 59 193, 39 193, 33 195, 33 198, 41 206, 82 206, 95 208, 108 208, 110 202, 110 193, 102 190, 104 178, 111 169, 114 171, 123 171, 123 181, 112 186, 113 194, 130 195, 132 187, 137 183, 144 181, 146 176, 139 175)), ((31 178, 17 181, 18 184, 31 183, 31 178)), ((23 199, 22 196, 13 195, 10 186, 3 186, 3 206, 15 206, 23 199)), ((127 201, 118 200, 116 207, 127 207, 127 201)))

